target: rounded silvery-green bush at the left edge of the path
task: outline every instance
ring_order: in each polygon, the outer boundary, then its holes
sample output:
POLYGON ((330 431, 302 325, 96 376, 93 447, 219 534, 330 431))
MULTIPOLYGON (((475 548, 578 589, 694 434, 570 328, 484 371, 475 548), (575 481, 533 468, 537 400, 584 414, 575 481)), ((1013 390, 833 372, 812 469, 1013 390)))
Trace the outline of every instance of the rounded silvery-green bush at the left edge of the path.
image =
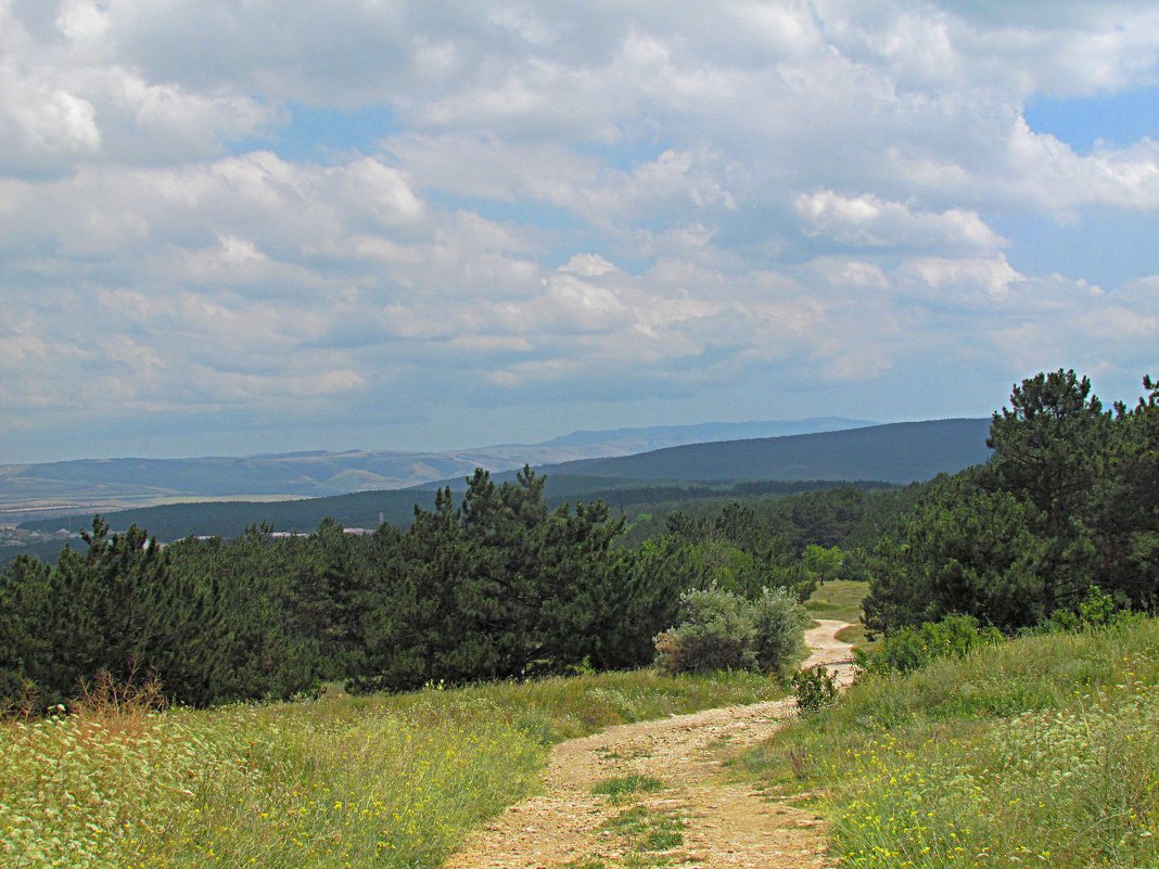
POLYGON ((755 601, 715 587, 686 591, 680 623, 656 637, 656 664, 668 673, 782 672, 800 657, 808 623, 785 589, 764 589, 755 601))

